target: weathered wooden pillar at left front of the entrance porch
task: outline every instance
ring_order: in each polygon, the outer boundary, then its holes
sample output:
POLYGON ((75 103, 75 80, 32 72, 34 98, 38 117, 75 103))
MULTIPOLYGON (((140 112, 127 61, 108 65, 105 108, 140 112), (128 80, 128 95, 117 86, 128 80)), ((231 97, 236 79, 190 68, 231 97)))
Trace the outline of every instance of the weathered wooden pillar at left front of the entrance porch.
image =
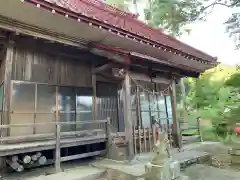
POLYGON ((128 160, 131 161, 134 157, 133 151, 133 129, 132 129, 132 118, 131 118, 131 83, 128 72, 125 73, 124 77, 124 124, 126 140, 128 142, 128 160))

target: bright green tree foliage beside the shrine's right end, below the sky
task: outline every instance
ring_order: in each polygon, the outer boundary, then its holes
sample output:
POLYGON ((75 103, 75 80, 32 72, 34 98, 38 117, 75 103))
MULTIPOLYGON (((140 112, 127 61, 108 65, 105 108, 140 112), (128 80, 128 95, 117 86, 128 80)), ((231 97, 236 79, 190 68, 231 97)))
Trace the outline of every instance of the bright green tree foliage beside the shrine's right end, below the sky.
POLYGON ((188 78, 188 112, 210 120, 215 132, 226 136, 240 122, 239 82, 240 72, 223 65, 206 71, 198 79, 188 78))

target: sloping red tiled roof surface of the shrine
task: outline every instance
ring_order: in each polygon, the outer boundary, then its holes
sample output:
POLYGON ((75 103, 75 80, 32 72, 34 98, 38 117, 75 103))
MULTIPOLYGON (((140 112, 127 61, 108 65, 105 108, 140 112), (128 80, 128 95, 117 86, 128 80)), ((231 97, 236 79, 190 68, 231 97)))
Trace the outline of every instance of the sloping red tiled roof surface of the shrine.
POLYGON ((132 37, 141 43, 152 45, 186 58, 197 59, 203 63, 216 62, 214 58, 204 52, 201 52, 189 45, 180 42, 172 36, 166 35, 160 30, 154 29, 143 22, 137 20, 133 14, 120 11, 99 0, 26 0, 34 3, 47 2, 50 6, 65 9, 68 13, 75 13, 87 18, 91 18, 98 23, 109 25, 117 33, 132 37))

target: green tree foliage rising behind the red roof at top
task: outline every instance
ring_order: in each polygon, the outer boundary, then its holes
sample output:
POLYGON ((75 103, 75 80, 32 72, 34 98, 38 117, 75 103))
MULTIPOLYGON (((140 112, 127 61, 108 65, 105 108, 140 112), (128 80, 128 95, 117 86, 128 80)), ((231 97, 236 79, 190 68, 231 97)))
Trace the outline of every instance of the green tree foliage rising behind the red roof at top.
POLYGON ((150 0, 145 9, 148 24, 173 36, 189 31, 186 25, 196 21, 204 0, 150 0))

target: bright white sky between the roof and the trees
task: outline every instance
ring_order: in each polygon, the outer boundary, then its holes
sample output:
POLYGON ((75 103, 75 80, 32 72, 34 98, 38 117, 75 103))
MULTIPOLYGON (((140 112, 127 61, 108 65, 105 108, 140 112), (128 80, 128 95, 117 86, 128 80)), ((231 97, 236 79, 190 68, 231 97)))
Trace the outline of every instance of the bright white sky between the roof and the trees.
MULTIPOLYGON (((144 2, 144 0, 142 1, 144 2)), ((144 3, 138 5, 140 12, 143 8, 144 3)), ((223 24, 231 16, 231 13, 230 8, 215 6, 205 22, 191 25, 191 33, 183 35, 179 39, 217 57, 219 62, 229 65, 240 64, 240 50, 235 50, 234 41, 226 33, 226 27, 223 24)), ((142 16, 140 14, 141 19, 143 19, 142 16)))

